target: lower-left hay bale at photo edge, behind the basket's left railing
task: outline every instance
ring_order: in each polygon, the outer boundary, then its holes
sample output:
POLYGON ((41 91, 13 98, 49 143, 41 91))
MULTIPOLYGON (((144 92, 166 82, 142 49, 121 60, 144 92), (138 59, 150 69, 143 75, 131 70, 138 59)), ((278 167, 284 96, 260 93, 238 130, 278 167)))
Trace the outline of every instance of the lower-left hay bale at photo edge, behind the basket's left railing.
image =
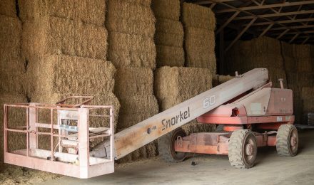
MULTIPOLYGON (((14 104, 14 103, 22 103, 27 102, 26 96, 21 95, 19 93, 1 93, 0 96, 0 170, 1 166, 4 162, 4 104, 14 104)), ((8 122, 9 127, 17 127, 17 126, 26 126, 26 110, 21 108, 9 108, 8 110, 8 122)), ((16 134, 13 132, 9 132, 9 149, 21 149, 25 147, 26 149, 26 139, 25 134, 16 134)))

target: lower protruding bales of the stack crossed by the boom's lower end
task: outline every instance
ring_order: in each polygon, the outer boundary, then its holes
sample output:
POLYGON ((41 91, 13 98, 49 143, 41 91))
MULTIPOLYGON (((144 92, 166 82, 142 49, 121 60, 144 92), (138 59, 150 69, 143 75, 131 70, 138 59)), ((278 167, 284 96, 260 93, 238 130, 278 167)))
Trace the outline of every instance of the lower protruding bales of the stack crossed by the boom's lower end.
MULTIPOLYGON (((158 103, 153 95, 151 68, 118 68, 115 93, 121 102, 118 131, 158 114, 158 103)), ((119 162, 131 162, 153 156, 156 156, 156 142, 128 154, 119 162)))

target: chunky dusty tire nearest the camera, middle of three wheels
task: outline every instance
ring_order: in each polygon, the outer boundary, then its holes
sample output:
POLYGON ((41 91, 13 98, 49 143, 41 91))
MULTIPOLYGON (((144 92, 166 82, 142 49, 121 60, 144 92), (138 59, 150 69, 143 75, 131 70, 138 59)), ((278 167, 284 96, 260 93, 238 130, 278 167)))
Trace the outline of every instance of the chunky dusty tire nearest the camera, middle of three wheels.
POLYGON ((231 134, 228 143, 228 157, 231 166, 239 169, 248 169, 255 164, 257 154, 255 135, 249 129, 238 129, 231 134), (250 142, 252 154, 245 153, 245 147, 250 142), (250 159, 247 159, 247 157, 250 159))

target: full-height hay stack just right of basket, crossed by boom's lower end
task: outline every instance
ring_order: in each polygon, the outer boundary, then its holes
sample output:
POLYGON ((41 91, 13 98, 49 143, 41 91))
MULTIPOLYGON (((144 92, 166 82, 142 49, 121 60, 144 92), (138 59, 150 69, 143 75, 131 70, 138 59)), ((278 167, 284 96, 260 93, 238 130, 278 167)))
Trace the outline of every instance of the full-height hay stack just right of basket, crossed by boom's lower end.
MULTIPOLYGON (((108 59, 117 68, 115 93, 121 102, 118 131, 158 113, 153 95, 156 19, 151 0, 108 0, 108 59)), ((156 142, 128 154, 120 162, 156 156, 156 142)))

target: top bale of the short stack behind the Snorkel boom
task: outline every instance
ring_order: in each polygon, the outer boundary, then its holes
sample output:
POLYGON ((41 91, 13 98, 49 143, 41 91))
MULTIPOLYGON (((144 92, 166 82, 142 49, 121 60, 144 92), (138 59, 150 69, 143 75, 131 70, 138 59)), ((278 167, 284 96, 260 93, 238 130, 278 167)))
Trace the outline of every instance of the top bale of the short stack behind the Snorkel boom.
POLYGON ((210 89, 211 80, 211 70, 205 68, 158 68, 155 72, 155 95, 159 102, 168 97, 195 96, 210 89))

